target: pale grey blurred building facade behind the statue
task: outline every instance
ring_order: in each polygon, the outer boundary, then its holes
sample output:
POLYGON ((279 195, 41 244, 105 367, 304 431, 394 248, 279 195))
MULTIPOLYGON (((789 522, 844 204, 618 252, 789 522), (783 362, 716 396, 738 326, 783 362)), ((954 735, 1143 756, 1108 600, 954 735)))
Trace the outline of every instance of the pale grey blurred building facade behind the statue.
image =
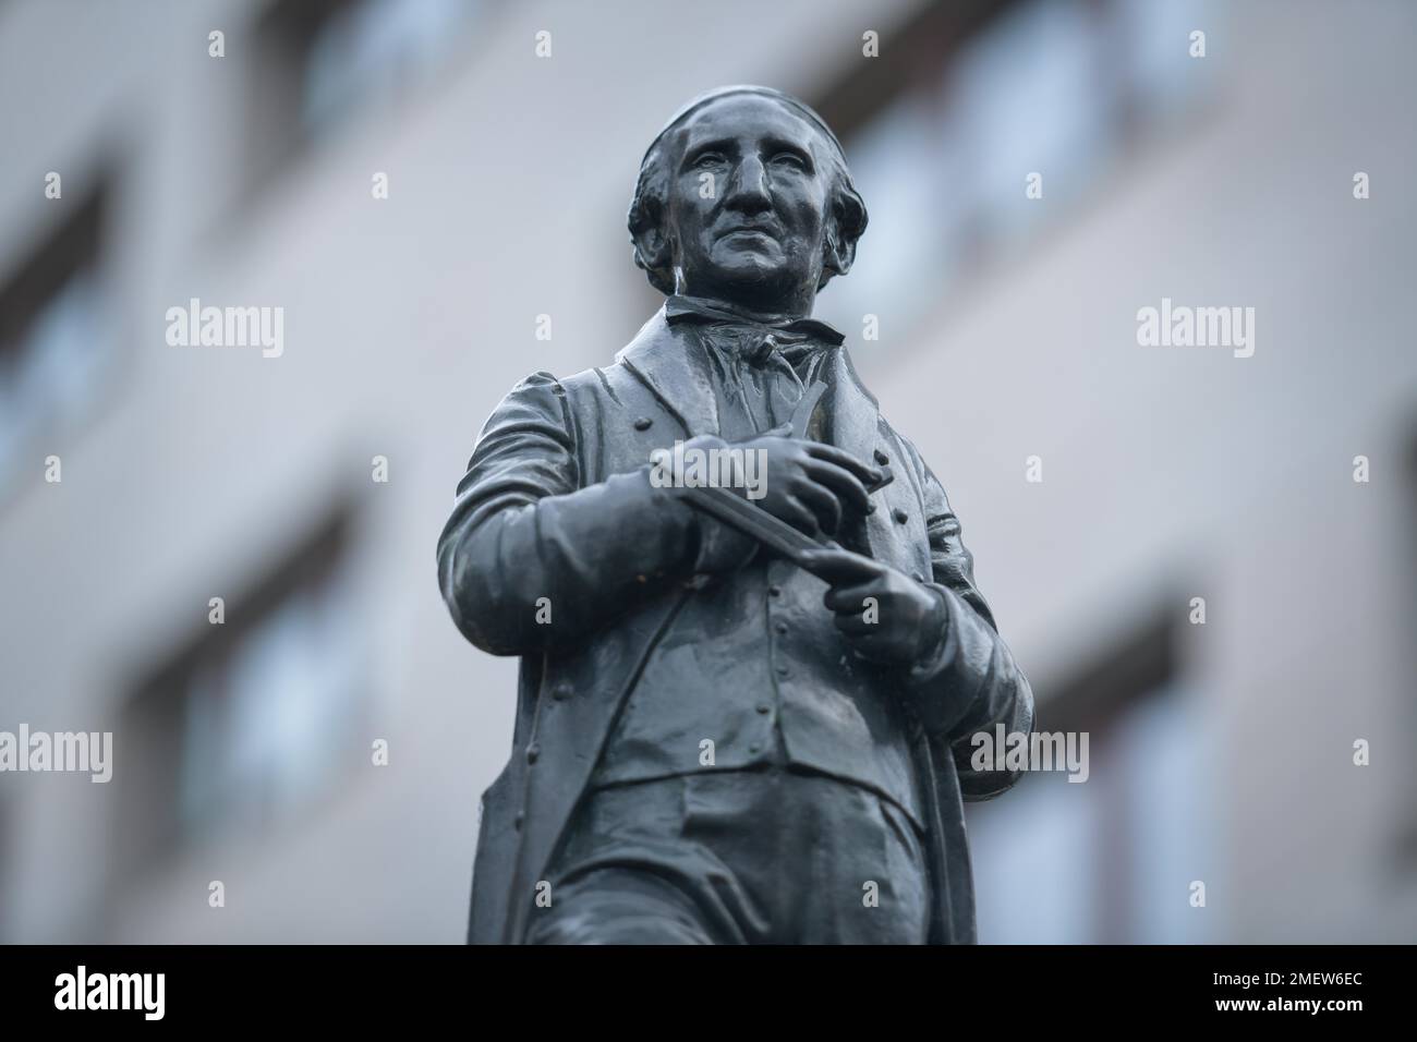
POLYGON ((657 306, 639 156, 726 82, 842 133, 871 224, 818 313, 1090 736, 971 808, 982 940, 1411 940, 1414 41, 1396 0, 0 6, 0 730, 115 743, 0 774, 0 940, 462 939, 516 663, 434 542, 506 390, 657 306), (194 299, 282 350, 170 343, 194 299), (1163 299, 1253 354, 1141 346, 1163 299))

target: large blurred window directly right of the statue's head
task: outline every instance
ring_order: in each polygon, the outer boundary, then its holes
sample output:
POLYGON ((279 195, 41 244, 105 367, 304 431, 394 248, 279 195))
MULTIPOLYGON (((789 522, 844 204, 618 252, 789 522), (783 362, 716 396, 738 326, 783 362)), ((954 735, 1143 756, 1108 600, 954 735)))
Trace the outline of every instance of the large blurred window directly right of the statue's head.
POLYGON ((1124 147, 1204 92, 1190 31, 1213 27, 1210 3, 928 4, 893 34, 890 60, 862 62, 822 101, 870 211, 822 318, 852 329, 873 313, 898 339, 971 269, 1076 211, 1124 147))

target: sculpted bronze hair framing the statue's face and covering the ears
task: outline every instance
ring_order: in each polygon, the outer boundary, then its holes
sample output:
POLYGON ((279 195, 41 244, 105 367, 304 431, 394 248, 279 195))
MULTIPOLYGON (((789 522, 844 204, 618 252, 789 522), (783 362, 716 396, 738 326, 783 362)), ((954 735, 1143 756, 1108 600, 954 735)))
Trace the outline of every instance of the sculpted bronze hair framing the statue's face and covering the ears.
POLYGON ((629 204, 629 237, 635 247, 635 267, 642 268, 649 284, 669 296, 674 292, 673 258, 669 240, 649 233, 662 231, 665 211, 669 206, 669 183, 673 172, 669 169, 669 155, 665 138, 690 115, 710 102, 734 94, 754 94, 771 98, 794 115, 812 123, 830 147, 830 184, 828 189, 826 241, 823 242, 820 291, 836 275, 845 275, 856 259, 856 242, 866 231, 866 203, 856 191, 852 172, 846 166, 846 153, 832 129, 822 122, 811 108, 781 91, 768 86, 726 86, 694 98, 684 105, 659 132, 639 164, 639 179, 635 181, 635 197, 629 204), (657 241, 657 247, 652 242, 657 241))

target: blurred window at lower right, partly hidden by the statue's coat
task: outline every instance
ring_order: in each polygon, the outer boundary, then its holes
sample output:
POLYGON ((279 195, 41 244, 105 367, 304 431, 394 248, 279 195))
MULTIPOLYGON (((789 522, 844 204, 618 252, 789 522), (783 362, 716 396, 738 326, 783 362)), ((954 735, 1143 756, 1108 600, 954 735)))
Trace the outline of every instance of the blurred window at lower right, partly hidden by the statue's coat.
POLYGON ((1087 781, 1037 773, 968 805, 981 941, 1209 939, 1190 883, 1214 882, 1214 758, 1173 639, 1151 624, 1040 699, 1043 732, 1088 733, 1087 781))

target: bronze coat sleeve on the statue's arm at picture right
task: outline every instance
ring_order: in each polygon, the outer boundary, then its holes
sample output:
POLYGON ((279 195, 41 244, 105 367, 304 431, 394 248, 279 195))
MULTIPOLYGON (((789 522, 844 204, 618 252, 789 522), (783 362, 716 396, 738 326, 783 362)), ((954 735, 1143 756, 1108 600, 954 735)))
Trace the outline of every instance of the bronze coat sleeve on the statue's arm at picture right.
POLYGON ((944 736, 954 754, 965 800, 988 800, 1019 780, 1019 771, 975 770, 979 732, 1003 724, 1007 733, 1033 729, 1033 690, 995 628, 993 612, 973 581, 973 556, 959 519, 930 468, 915 456, 925 496, 925 523, 934 583, 944 627, 932 652, 911 671, 914 705, 924 726, 944 736))

